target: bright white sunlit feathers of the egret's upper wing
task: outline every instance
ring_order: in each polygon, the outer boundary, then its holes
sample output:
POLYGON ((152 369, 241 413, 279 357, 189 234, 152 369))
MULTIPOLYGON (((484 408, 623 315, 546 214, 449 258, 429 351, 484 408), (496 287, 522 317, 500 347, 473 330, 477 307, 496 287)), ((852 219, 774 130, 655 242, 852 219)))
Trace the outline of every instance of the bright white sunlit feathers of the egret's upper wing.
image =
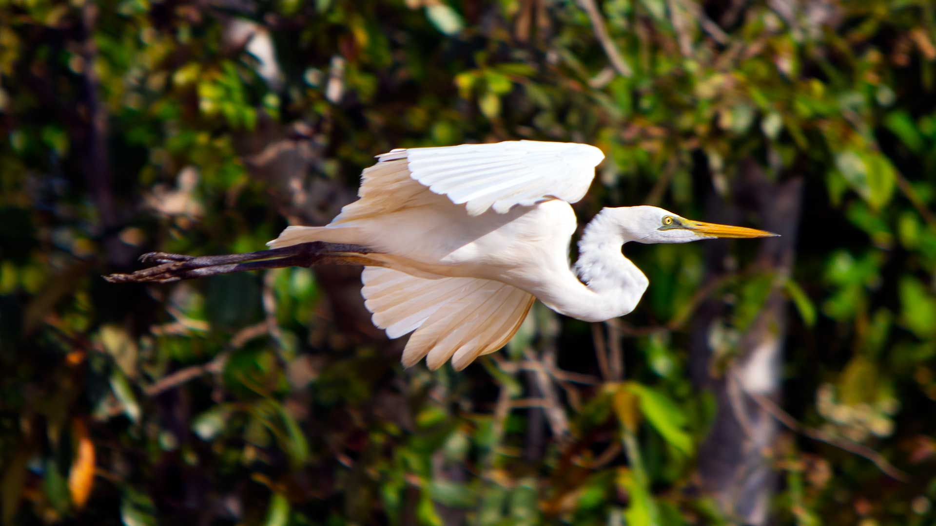
POLYGON ((588 192, 605 154, 575 142, 509 140, 394 150, 378 158, 406 159, 410 177, 479 215, 551 197, 574 203, 588 192))

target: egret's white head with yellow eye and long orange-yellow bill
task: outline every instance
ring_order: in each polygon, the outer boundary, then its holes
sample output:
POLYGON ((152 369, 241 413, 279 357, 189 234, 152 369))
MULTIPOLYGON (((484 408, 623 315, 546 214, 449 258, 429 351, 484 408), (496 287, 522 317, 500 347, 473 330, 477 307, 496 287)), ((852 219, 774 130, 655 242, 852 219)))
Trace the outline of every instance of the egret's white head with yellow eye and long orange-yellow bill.
POLYGON ((765 230, 745 226, 718 225, 686 219, 653 206, 610 209, 624 231, 625 239, 641 243, 685 243, 714 238, 772 238, 765 230))

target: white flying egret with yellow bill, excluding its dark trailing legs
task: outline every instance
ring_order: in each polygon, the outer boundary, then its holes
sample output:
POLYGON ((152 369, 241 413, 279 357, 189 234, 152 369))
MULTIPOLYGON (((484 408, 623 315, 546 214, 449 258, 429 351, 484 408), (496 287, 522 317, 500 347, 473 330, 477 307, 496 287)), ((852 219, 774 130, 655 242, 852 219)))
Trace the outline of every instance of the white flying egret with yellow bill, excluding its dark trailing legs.
POLYGON ((361 292, 390 338, 413 332, 403 365, 448 359, 461 370, 517 332, 534 300, 580 320, 628 314, 649 285, 622 245, 770 232, 714 225, 653 206, 605 208, 585 226, 569 266, 576 215, 604 158, 587 144, 511 140, 408 148, 377 156, 358 200, 327 226, 289 226, 273 248, 360 245, 361 292))

